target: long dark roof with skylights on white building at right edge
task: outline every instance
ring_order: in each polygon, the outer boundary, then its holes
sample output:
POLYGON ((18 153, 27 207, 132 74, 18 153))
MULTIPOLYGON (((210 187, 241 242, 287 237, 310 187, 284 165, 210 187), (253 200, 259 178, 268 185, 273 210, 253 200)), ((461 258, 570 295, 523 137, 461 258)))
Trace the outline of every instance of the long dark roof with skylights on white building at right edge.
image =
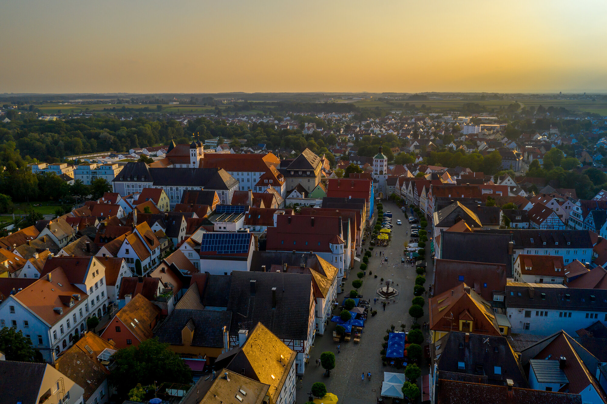
POLYGON ((607 290, 506 285, 506 307, 607 312, 607 290))

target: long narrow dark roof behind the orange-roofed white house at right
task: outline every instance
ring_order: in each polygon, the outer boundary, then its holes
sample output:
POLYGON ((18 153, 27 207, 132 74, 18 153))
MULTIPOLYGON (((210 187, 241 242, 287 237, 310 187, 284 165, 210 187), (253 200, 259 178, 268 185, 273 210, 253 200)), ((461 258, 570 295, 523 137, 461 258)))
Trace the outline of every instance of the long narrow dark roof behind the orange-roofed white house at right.
POLYGON ((500 229, 483 230, 481 232, 486 234, 512 235, 514 247, 518 249, 559 248, 562 246, 569 246, 568 248, 592 248, 592 241, 587 230, 500 229))

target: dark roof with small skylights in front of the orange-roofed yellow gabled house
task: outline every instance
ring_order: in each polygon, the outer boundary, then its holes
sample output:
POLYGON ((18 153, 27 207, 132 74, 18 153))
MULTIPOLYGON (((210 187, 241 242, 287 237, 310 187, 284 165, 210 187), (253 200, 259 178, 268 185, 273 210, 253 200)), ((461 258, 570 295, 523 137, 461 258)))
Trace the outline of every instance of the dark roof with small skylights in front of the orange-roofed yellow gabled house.
POLYGON ((512 379, 515 386, 527 387, 523 369, 506 337, 452 331, 441 340, 440 348, 436 350, 441 352, 439 372, 486 375, 490 385, 505 385, 506 379, 512 379), (458 369, 458 362, 464 362, 465 369, 458 369), (501 366, 501 374, 495 374, 493 366, 501 366))

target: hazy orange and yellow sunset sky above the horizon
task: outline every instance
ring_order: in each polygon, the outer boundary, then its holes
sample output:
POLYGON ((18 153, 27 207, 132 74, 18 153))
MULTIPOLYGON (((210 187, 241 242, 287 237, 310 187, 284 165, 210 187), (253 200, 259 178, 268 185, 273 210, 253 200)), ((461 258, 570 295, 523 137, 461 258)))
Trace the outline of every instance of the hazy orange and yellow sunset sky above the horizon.
POLYGON ((6 1, 0 93, 607 92, 606 1, 6 1))

